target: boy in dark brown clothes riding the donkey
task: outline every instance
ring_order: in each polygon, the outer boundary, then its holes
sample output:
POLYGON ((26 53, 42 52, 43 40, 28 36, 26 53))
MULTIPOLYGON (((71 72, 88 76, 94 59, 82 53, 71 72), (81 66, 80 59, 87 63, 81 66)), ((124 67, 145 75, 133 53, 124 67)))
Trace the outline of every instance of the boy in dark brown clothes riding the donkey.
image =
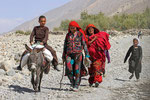
MULTIPOLYGON (((44 45, 45 48, 48 49, 53 55, 52 64, 54 65, 54 69, 59 71, 57 68, 58 59, 56 56, 56 51, 53 50, 52 47, 47 44, 49 29, 48 29, 48 27, 45 26, 46 17, 40 16, 39 23, 40 23, 40 25, 35 26, 30 35, 30 44, 33 45, 35 43, 39 43, 40 45, 44 45), (34 38, 34 41, 33 41, 33 38, 34 38)), ((50 54, 50 53, 48 53, 48 54, 50 54)), ((28 59, 28 55, 27 55, 27 52, 25 51, 21 57, 20 65, 17 68, 18 70, 22 70, 22 68, 26 65, 27 59, 28 59)))

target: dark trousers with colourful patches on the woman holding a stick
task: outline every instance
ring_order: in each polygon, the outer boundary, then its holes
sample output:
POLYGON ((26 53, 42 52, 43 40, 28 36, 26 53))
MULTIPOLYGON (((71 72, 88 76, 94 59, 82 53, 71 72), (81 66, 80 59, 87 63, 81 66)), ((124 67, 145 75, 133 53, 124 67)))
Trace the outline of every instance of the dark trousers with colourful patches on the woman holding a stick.
POLYGON ((78 88, 81 82, 82 53, 66 56, 66 75, 73 87, 78 88))

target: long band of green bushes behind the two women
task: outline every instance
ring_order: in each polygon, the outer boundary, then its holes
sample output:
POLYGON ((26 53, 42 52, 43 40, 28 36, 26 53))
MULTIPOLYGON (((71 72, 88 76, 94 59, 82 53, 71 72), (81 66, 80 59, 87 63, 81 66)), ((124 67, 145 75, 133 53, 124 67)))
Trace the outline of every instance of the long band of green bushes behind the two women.
MULTIPOLYGON (((59 27, 54 30, 67 31, 68 24, 71 20, 64 20, 59 27)), ((122 14, 107 17, 103 13, 90 15, 87 12, 82 12, 79 20, 76 20, 82 29, 85 29, 88 24, 94 24, 100 30, 115 29, 127 30, 132 28, 150 29, 150 8, 147 8, 143 13, 122 14)))

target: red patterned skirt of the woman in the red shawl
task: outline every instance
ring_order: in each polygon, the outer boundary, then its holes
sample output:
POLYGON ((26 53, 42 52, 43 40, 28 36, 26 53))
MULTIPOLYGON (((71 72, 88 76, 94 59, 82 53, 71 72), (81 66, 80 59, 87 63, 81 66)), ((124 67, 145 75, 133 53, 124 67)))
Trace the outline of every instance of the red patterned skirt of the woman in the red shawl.
POLYGON ((93 84, 93 83, 101 83, 102 82, 102 65, 103 65, 103 62, 101 60, 96 60, 94 62, 92 62, 90 68, 88 69, 89 70, 89 83, 90 84, 93 84))

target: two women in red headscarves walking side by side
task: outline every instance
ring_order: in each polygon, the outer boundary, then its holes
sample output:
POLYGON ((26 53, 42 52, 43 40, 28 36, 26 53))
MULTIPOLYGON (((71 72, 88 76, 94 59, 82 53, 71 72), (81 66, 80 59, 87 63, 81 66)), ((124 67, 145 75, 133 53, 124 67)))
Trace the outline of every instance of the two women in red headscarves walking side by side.
POLYGON ((102 75, 105 74, 105 59, 110 49, 109 34, 100 32, 93 24, 89 24, 83 31, 77 22, 71 21, 68 33, 64 42, 63 62, 66 63, 66 75, 68 76, 71 88, 78 90, 81 82, 82 64, 85 52, 84 62, 91 64, 88 67, 89 84, 98 87, 102 82, 102 75))

